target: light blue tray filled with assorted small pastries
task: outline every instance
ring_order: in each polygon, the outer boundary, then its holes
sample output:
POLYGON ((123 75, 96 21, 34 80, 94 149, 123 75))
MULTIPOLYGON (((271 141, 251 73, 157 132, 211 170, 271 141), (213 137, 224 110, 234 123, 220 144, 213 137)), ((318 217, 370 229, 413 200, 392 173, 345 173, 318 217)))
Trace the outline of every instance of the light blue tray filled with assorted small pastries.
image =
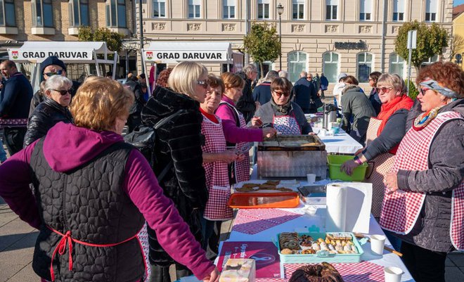
POLYGON ((360 262, 363 248, 350 232, 283 232, 278 252, 283 263, 360 262))

